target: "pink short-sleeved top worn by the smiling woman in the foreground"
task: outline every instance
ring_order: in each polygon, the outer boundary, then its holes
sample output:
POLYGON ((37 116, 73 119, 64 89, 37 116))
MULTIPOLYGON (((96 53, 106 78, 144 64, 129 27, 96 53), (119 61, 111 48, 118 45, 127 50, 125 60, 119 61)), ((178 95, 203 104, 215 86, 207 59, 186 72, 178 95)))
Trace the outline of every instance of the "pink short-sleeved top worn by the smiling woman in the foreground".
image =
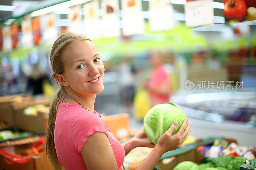
POLYGON ((124 162, 124 147, 109 131, 100 115, 89 112, 76 103, 60 102, 54 129, 54 143, 60 164, 65 170, 87 170, 82 154, 84 142, 90 135, 103 132, 112 146, 118 169, 124 162))

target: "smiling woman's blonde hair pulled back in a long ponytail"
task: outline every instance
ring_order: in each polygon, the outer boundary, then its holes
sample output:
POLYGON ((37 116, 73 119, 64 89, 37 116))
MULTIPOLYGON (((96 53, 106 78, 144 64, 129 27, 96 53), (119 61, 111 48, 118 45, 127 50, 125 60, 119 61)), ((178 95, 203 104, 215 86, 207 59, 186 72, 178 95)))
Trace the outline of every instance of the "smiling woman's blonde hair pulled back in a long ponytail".
MULTIPOLYGON (((58 84, 57 80, 55 79, 55 74, 62 74, 64 73, 64 58, 62 56, 63 49, 72 42, 75 41, 85 41, 89 40, 84 35, 78 35, 76 33, 66 32, 59 36, 59 38, 54 42, 52 46, 52 51, 50 55, 51 65, 52 65, 52 81, 56 84, 58 84)), ((48 120, 47 120, 47 129, 45 133, 45 151, 46 156, 51 161, 52 166, 54 169, 62 169, 62 165, 60 164, 55 144, 54 144, 54 128, 55 128, 55 121, 56 121, 56 115, 57 110, 59 107, 60 102, 64 99, 66 95, 66 91, 62 85, 60 85, 57 92, 54 94, 51 104, 50 104, 50 110, 48 114, 48 120)))

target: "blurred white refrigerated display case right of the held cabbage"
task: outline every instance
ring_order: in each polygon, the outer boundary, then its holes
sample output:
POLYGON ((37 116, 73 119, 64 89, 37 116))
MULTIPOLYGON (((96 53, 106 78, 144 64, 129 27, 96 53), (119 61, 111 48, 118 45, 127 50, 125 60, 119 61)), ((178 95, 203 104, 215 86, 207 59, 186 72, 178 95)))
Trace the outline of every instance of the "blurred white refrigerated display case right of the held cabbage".
POLYGON ((179 91, 171 101, 189 117, 192 136, 229 137, 240 145, 255 146, 255 89, 179 91))

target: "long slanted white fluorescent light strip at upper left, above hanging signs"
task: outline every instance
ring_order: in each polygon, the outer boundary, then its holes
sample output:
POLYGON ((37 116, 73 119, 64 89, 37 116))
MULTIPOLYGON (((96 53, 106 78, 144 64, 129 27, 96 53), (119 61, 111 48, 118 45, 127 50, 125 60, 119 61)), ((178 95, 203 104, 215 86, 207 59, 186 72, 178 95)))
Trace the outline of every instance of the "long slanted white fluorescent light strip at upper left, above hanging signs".
POLYGON ((74 6, 74 5, 78 5, 78 4, 84 4, 86 2, 88 2, 90 0, 70 0, 70 1, 66 1, 60 4, 56 4, 56 5, 52 5, 34 12, 31 12, 31 17, 36 17, 39 15, 43 15, 49 12, 53 12, 53 11, 58 11, 61 10, 63 8, 67 8, 70 6, 74 6))

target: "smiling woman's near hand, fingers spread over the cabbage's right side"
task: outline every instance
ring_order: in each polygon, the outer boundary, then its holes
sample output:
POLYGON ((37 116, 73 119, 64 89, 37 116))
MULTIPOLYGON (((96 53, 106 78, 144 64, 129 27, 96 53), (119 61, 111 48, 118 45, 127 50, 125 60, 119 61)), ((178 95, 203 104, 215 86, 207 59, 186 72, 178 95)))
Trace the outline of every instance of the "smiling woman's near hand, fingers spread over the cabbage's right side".
POLYGON ((191 130, 191 123, 188 123, 188 118, 184 120, 179 131, 175 135, 172 135, 172 132, 177 127, 177 123, 177 121, 174 121, 171 127, 157 140, 156 148, 159 148, 163 154, 165 152, 177 149, 188 138, 191 130), (186 128, 187 123, 188 126, 186 128))

